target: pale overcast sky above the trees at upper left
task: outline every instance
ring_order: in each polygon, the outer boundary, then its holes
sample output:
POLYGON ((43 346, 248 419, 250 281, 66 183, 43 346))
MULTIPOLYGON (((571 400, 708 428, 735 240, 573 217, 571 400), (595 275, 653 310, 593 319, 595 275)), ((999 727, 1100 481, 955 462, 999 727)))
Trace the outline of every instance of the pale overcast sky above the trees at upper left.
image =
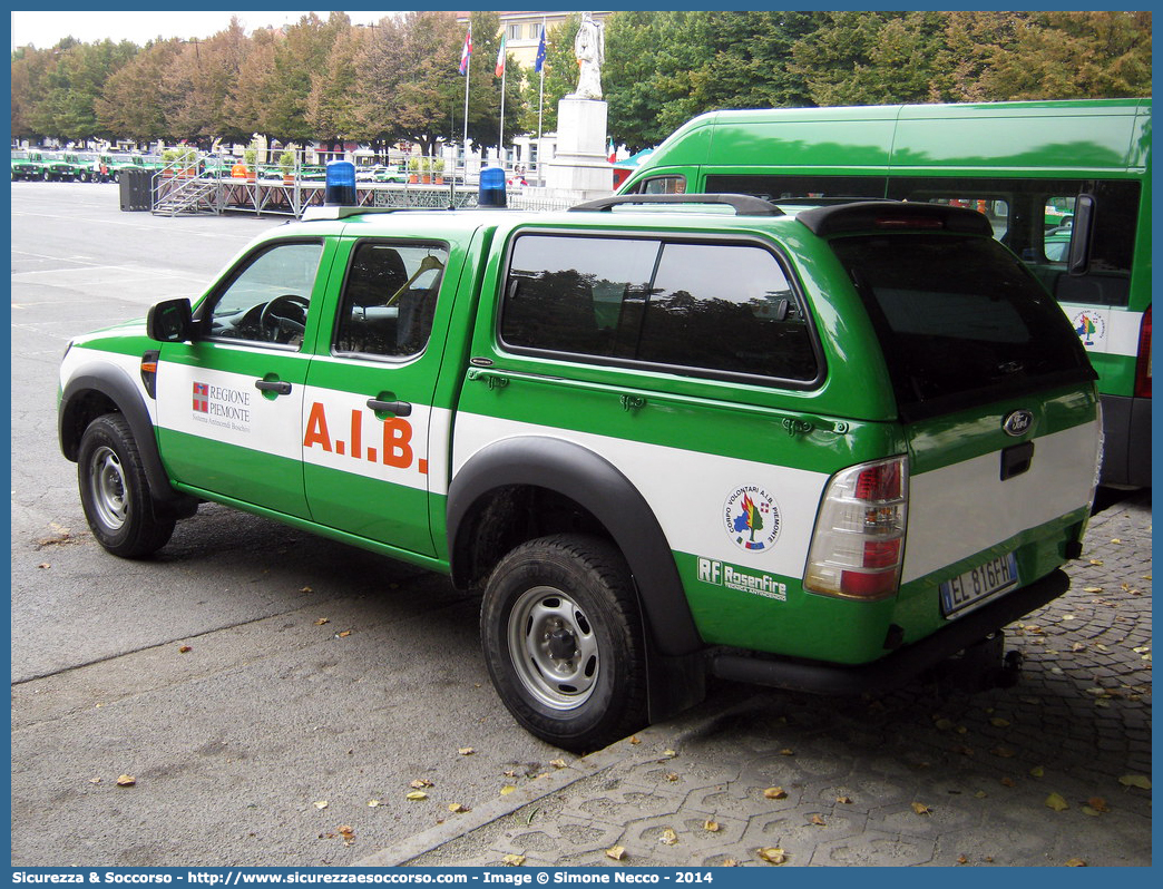
MULTIPOLYGON (((99 5, 100 6, 100 5, 99 5)), ((440 5, 429 8, 440 8, 440 5)), ((64 37, 76 37, 83 43, 95 43, 108 37, 117 42, 130 41, 144 45, 156 37, 191 37, 205 38, 216 34, 230 23, 230 16, 237 15, 242 27, 249 34, 255 28, 271 24, 293 24, 306 12, 283 12, 266 9, 264 12, 147 12, 131 13, 104 12, 100 8, 90 12, 13 12, 12 13, 12 49, 27 47, 31 43, 37 49, 48 49, 64 37)), ((320 12, 323 19, 329 13, 320 12)), ((349 12, 351 21, 357 24, 378 22, 386 12, 349 12)))

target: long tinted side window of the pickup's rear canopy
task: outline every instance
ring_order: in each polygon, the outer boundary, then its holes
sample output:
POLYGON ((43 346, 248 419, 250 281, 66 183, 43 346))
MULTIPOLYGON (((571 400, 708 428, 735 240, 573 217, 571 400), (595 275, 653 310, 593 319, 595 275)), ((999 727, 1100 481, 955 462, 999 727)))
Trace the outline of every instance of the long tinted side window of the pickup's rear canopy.
POLYGON ((816 378, 804 313, 773 254, 749 243, 523 235, 501 340, 697 376, 816 378))

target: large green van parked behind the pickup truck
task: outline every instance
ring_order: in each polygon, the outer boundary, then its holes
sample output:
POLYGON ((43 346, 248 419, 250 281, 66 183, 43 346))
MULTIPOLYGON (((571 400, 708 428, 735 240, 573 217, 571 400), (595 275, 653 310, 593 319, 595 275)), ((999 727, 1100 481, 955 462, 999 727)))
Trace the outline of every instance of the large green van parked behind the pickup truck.
POLYGON ((1103 483, 1151 484, 1150 99, 713 112, 672 133, 620 190, 680 192, 983 213, 1099 374, 1103 483))

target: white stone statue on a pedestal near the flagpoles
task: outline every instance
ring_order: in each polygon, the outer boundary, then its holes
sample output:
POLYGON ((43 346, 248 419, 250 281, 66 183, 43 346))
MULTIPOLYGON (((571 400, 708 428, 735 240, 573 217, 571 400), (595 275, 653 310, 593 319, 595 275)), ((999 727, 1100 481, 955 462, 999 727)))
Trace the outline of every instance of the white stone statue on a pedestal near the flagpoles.
POLYGON ((545 165, 545 187, 552 195, 587 200, 614 191, 606 157, 607 106, 601 98, 606 35, 591 13, 582 14, 573 55, 578 87, 557 104, 557 154, 545 165))

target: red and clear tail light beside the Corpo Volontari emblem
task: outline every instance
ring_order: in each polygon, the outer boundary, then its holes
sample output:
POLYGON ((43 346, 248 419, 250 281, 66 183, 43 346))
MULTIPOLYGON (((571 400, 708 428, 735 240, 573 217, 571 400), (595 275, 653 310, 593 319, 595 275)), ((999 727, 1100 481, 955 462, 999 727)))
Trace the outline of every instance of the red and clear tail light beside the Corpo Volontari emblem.
POLYGON ((837 472, 823 493, 804 589, 865 600, 893 596, 900 585, 907 513, 905 457, 837 472))

